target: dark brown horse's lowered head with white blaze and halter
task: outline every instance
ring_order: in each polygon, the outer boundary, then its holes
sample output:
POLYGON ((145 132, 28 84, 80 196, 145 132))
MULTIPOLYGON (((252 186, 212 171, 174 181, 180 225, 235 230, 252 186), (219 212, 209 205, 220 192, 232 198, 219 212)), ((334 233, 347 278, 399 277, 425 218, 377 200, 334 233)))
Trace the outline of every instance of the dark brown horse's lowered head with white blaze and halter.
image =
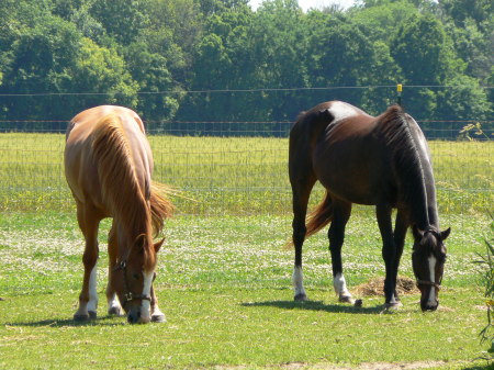
POLYGON ((417 287, 420 290, 422 311, 435 311, 439 305, 438 293, 446 262, 446 246, 444 242, 451 228, 439 232, 434 227, 420 231, 413 227, 414 249, 412 265, 417 287))

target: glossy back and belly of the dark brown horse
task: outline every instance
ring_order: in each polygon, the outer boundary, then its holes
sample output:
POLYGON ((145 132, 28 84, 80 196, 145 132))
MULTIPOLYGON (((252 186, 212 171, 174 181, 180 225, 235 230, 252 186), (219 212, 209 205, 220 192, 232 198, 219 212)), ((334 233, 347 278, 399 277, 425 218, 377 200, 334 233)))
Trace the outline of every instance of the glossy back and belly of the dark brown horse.
POLYGON ((380 117, 340 101, 322 103, 307 113, 305 135, 313 137, 305 150, 315 177, 335 198, 379 202, 383 190, 393 187, 389 150, 375 135, 380 117))

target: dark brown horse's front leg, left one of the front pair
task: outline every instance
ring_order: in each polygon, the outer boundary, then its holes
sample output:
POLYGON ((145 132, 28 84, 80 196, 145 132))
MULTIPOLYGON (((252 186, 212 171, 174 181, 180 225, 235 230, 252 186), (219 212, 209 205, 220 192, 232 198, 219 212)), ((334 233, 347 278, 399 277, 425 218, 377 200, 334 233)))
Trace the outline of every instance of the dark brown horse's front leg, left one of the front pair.
POLYGON ((392 209, 388 204, 378 205, 375 214, 378 217, 379 229, 382 237, 382 258, 384 259, 386 277, 384 279, 385 307, 396 309, 401 302, 395 294, 396 273, 397 273, 397 250, 394 242, 393 225, 391 223, 392 209))

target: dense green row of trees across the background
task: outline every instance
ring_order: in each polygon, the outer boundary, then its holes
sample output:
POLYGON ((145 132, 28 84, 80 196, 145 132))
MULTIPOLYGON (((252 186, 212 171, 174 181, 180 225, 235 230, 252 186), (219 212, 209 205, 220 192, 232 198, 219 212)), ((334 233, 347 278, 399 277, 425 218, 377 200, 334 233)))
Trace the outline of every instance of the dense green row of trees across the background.
POLYGON ((330 99, 379 113, 404 83, 416 119, 491 130, 493 33, 490 0, 2 0, 0 120, 117 103, 166 130, 279 123, 330 99))

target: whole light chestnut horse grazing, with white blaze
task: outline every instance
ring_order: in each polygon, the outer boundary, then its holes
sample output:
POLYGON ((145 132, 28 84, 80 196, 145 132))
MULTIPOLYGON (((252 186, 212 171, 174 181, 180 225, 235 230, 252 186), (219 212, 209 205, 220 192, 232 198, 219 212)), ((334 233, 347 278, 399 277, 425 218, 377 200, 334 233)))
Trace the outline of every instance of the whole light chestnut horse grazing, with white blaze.
POLYGON ((76 321, 96 318, 98 307, 98 228, 113 217, 109 234, 109 314, 127 313, 130 323, 162 322, 153 288, 154 243, 171 215, 166 188, 151 181, 153 155, 139 116, 130 109, 103 105, 76 115, 66 134, 65 175, 86 239, 85 274, 76 321))

